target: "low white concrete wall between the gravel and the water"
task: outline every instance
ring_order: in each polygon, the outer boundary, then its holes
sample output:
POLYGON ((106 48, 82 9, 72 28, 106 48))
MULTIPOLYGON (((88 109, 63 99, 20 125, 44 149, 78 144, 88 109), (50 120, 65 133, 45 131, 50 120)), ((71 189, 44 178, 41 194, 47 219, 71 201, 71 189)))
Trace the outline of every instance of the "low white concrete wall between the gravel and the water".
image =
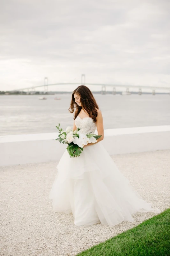
MULTIPOLYGON (((0 166, 59 160, 66 145, 55 141, 57 136, 57 133, 0 136, 0 166)), ((170 149, 170 125, 107 129, 99 143, 110 155, 170 149)))

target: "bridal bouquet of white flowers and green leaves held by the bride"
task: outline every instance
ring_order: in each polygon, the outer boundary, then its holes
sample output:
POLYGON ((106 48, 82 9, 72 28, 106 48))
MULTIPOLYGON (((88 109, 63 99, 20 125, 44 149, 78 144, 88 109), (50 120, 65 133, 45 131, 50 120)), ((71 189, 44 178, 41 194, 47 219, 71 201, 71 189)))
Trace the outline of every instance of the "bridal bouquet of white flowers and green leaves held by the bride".
POLYGON ((66 131, 63 131, 63 129, 60 128, 60 124, 58 124, 56 128, 59 131, 59 135, 56 140, 59 140, 60 143, 68 144, 67 151, 70 157, 80 156, 85 145, 88 143, 95 143, 97 141, 96 139, 99 139, 102 136, 92 134, 91 132, 83 134, 83 129, 80 130, 79 128, 73 131, 70 126, 66 128, 66 131))

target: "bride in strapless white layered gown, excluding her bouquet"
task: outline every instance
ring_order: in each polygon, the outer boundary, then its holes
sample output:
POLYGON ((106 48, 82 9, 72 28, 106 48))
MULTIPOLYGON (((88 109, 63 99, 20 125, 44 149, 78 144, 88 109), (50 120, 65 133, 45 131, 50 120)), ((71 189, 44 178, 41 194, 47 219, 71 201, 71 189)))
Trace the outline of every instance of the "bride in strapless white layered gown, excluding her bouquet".
POLYGON ((79 127, 87 134, 97 129, 102 136, 84 146, 79 157, 70 158, 65 150, 49 193, 53 211, 72 212, 77 226, 101 223, 110 227, 122 221, 133 222, 136 212, 159 213, 130 185, 100 143, 104 139, 102 113, 85 85, 72 93, 69 111, 74 110, 73 130, 79 127))

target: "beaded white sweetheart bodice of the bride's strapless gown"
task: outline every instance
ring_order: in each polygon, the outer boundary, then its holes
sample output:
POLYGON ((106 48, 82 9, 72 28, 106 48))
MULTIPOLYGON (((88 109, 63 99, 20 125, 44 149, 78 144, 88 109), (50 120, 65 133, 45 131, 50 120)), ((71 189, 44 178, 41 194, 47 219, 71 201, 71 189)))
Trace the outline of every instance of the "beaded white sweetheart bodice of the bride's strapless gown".
POLYGON ((89 132, 94 133, 97 129, 96 123, 93 122, 93 119, 91 117, 84 117, 81 118, 80 116, 77 116, 75 119, 76 128, 83 129, 83 133, 87 134, 89 132))

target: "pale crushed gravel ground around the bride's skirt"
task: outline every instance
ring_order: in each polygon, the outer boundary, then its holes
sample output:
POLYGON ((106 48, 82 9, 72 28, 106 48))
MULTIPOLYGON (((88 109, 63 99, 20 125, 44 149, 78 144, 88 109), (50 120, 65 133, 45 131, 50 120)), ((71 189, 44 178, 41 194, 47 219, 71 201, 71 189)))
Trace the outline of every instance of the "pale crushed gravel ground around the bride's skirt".
MULTIPOLYGON (((139 194, 161 211, 170 207, 170 150, 113 156, 139 194)), ((109 228, 77 227, 72 213, 55 213, 48 199, 56 162, 1 167, 1 255, 76 255, 156 215, 136 213, 134 222, 109 228)))

